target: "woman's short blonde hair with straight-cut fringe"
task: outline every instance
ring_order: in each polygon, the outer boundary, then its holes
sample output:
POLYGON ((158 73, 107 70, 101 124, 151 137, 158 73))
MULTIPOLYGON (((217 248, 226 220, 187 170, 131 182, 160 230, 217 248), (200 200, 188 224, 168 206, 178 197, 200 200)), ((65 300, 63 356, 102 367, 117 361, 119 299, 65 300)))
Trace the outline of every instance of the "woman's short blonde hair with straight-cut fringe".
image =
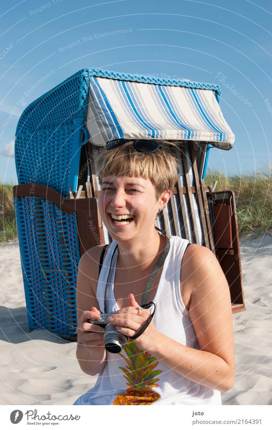
POLYGON ((150 179, 155 187, 156 199, 159 199, 163 191, 171 190, 177 182, 178 164, 176 145, 167 141, 156 142, 162 147, 150 154, 137 151, 133 141, 101 151, 96 157, 99 183, 111 175, 150 179))

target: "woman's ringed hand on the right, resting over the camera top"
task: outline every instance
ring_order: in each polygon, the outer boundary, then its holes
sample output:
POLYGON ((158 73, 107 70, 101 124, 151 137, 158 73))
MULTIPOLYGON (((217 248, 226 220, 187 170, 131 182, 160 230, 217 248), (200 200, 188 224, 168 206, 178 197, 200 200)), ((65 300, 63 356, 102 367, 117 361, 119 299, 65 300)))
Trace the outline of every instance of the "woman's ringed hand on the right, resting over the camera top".
MULTIPOLYGON (((128 296, 128 303, 129 306, 119 309, 108 321, 115 325, 119 333, 131 337, 140 331, 143 324, 145 324, 150 317, 151 312, 148 309, 138 309, 140 305, 137 303, 132 293, 128 296)), ((156 334, 157 330, 153 321, 151 321, 144 333, 134 341, 139 348, 148 351, 151 344, 154 343, 156 334)))

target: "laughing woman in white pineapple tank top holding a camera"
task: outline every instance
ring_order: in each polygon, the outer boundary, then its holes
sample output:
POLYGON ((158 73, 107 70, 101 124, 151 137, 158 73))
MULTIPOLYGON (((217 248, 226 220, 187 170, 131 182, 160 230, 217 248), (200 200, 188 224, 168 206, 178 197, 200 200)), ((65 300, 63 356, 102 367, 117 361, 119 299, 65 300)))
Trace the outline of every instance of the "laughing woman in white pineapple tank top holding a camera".
POLYGON ((157 268, 168 239, 154 224, 177 179, 173 146, 119 144, 108 144, 110 150, 97 159, 99 213, 114 241, 99 282, 103 246, 88 250, 79 264, 77 358, 85 373, 99 377, 75 404, 220 405, 220 392, 234 379, 227 281, 210 250, 188 246, 177 236, 169 238, 169 251, 157 268), (144 301, 155 303, 155 315, 132 340, 150 317, 139 305, 152 272, 155 279, 144 301), (105 329, 89 322, 99 319, 104 304, 115 312, 108 322, 128 339, 119 354, 105 350, 105 329))

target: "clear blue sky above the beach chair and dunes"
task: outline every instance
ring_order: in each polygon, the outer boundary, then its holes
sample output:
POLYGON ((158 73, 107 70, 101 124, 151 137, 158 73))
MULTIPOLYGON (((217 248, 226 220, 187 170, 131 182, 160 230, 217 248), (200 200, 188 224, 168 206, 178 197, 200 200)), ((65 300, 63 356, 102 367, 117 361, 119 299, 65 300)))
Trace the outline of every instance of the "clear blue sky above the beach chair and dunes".
POLYGON ((212 149, 209 166, 231 175, 272 165, 269 0, 2 0, 0 20, 2 182, 17 181, 23 109, 84 67, 219 84, 236 141, 212 149))

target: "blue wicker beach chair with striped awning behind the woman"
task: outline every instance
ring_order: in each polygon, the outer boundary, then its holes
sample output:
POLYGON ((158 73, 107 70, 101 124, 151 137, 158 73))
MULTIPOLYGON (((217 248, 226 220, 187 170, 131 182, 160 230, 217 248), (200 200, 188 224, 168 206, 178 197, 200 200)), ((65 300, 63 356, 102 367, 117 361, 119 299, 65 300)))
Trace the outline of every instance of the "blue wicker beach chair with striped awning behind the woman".
POLYGON ((217 85, 84 69, 24 110, 14 201, 30 330, 75 339, 80 256, 111 241, 97 212, 96 155, 122 138, 175 141, 179 176, 158 226, 215 252, 233 312, 245 308, 234 194, 204 182, 210 148, 234 142, 219 98, 217 85))

